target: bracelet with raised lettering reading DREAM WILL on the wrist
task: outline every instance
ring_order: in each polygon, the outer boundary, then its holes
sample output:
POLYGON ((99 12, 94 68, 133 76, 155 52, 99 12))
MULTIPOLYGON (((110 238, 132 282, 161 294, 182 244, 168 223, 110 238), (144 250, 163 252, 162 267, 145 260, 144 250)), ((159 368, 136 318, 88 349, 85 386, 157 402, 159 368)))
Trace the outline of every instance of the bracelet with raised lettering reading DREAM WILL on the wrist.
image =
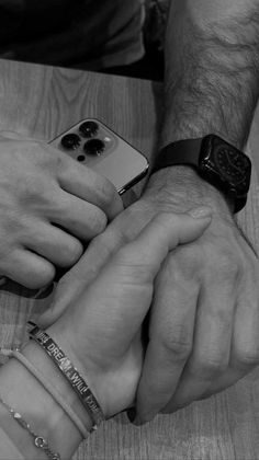
POLYGON ((91 428, 91 432, 95 430, 98 425, 100 425, 105 417, 88 383, 56 342, 54 342, 54 340, 35 323, 30 321, 30 325, 33 326, 33 329, 29 331, 30 337, 43 347, 58 369, 61 370, 92 418, 93 427, 91 428))

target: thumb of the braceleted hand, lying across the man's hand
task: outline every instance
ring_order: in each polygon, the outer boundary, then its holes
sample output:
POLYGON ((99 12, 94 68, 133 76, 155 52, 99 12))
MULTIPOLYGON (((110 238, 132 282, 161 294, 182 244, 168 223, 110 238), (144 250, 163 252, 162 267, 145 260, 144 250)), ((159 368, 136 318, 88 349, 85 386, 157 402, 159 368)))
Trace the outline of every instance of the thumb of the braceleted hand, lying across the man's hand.
POLYGON ((122 284, 153 284, 168 252, 180 243, 198 238, 209 222, 210 218, 193 219, 188 215, 159 214, 134 241, 120 249, 108 267, 104 267, 111 286, 120 279, 122 284))

